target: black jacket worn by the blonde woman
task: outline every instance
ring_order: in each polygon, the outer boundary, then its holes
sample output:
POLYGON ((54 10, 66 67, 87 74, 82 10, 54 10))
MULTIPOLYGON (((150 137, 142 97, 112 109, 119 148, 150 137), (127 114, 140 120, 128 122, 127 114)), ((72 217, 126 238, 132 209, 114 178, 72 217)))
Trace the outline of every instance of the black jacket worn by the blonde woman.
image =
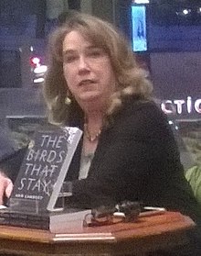
MULTIPOLYGON (((134 98, 126 101, 110 128, 102 130, 84 180, 78 180, 81 142, 67 174, 67 180, 73 182, 71 202, 94 207, 122 200, 139 201, 199 219, 172 129, 153 102, 134 98)), ((9 161, 3 168, 12 169, 9 161)))

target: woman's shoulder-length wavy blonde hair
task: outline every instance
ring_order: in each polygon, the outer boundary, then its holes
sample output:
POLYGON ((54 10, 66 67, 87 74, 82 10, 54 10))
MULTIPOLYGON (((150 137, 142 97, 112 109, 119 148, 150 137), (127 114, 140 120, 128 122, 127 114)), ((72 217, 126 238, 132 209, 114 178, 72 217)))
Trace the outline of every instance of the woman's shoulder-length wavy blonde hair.
POLYGON ((68 124, 69 116, 72 115, 70 111, 73 109, 75 117, 78 117, 75 111, 81 111, 70 95, 63 74, 63 41, 72 30, 79 31, 92 44, 105 50, 111 59, 116 77, 116 91, 109 100, 106 118, 112 117, 121 108, 122 99, 127 95, 136 95, 143 100, 151 98, 152 83, 146 78, 146 72, 138 66, 132 47, 122 33, 98 17, 76 13, 56 28, 48 41, 48 72, 44 83, 44 96, 51 122, 68 124), (70 105, 65 103, 67 96, 72 98, 70 105))

